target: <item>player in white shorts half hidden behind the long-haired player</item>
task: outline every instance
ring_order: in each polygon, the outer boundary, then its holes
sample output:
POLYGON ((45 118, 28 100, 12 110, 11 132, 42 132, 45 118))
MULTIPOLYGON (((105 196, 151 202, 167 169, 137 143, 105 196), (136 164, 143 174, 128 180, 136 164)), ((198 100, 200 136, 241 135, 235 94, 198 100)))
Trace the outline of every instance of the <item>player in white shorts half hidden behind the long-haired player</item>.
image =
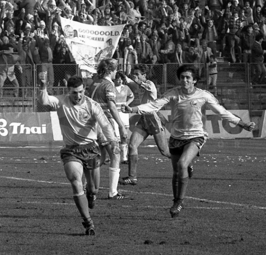
MULTIPOLYGON (((134 100, 134 94, 129 86, 123 84, 123 79, 126 79, 126 76, 122 72, 117 72, 116 78, 114 80, 116 86, 116 106, 119 112, 119 116, 124 123, 124 126, 128 132, 129 130, 129 114, 122 113, 121 106, 122 105, 130 105, 134 100)), ((121 150, 121 163, 128 164, 128 141, 124 140, 120 144, 121 150)))

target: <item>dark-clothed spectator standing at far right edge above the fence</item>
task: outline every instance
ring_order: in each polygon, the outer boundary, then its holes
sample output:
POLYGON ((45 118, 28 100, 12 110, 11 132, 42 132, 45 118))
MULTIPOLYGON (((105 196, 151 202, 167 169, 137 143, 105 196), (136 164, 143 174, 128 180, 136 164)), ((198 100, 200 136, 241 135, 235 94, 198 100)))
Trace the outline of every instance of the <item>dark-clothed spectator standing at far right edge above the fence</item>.
POLYGON ((255 63, 254 65, 252 65, 255 73, 252 79, 252 84, 262 84, 266 75, 266 68, 263 64, 263 55, 266 54, 266 50, 263 50, 261 47, 262 40, 263 35, 257 34, 255 37, 255 42, 251 47, 251 62, 255 63))

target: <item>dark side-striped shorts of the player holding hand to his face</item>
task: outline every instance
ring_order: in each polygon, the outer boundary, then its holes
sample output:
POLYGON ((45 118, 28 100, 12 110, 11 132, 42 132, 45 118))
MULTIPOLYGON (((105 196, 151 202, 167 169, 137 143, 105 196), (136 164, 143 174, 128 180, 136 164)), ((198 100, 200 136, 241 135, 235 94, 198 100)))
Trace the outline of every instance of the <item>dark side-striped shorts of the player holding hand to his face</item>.
POLYGON ((165 130, 166 118, 161 113, 142 114, 136 127, 149 135, 155 135, 165 130))

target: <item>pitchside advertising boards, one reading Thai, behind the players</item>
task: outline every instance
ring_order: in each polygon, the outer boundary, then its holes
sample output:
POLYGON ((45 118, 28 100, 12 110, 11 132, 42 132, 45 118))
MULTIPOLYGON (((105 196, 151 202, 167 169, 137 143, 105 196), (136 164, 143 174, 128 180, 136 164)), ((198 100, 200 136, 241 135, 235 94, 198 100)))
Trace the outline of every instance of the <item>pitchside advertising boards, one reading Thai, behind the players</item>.
MULTIPOLYGON (((171 111, 161 111, 168 120, 166 123, 167 137, 170 137, 171 111)), ((233 110, 232 113, 244 122, 250 121, 247 110, 233 110)), ((209 138, 250 138, 248 132, 238 126, 222 120, 210 110, 206 112, 206 131, 209 138)), ((130 114, 131 135, 140 115, 130 114)), ((266 132, 263 132, 263 135, 266 132)), ((0 113, 0 141, 1 142, 33 142, 33 141, 62 141, 59 119, 56 112, 47 113, 0 113)), ((153 139, 149 136, 148 139, 153 139)))

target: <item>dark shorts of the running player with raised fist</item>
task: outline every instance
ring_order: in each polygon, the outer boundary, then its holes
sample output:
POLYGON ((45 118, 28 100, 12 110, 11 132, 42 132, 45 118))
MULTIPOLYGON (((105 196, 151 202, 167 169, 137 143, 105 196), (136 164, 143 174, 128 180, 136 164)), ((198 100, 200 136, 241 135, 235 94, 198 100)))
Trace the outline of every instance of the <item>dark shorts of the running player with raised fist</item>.
POLYGON ((100 149, 96 142, 84 145, 65 145, 60 150, 64 165, 68 162, 79 162, 83 168, 92 170, 100 166, 100 149))

